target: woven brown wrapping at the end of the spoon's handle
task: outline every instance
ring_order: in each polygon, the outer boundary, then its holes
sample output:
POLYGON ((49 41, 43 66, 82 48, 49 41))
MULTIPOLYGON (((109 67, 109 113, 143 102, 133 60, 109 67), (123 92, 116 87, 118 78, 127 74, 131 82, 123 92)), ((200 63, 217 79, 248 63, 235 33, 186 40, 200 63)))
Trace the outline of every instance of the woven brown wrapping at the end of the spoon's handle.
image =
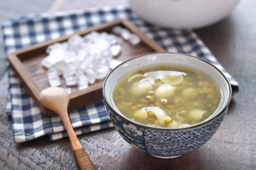
POLYGON ((93 162, 85 152, 84 148, 78 148, 73 150, 76 162, 79 170, 96 170, 93 162))

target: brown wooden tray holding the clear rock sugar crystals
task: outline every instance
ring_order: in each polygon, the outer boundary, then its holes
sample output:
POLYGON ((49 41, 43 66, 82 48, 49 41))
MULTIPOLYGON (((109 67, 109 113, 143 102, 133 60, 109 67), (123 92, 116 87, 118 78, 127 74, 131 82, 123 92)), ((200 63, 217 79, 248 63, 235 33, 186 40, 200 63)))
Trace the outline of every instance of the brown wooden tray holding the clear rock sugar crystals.
MULTIPOLYGON (((134 34, 137 34, 141 42, 138 45, 131 45, 128 41, 124 41, 119 37, 119 44, 122 46, 122 52, 117 59, 125 61, 131 57, 135 57, 140 54, 164 51, 157 43, 143 34, 136 26, 134 26, 128 20, 117 20, 111 23, 105 23, 100 26, 95 26, 82 31, 77 31, 74 34, 84 36, 91 31, 111 33, 111 29, 114 26, 122 26, 127 28, 134 34)), ((20 79, 23 87, 28 91, 30 96, 35 100, 40 110, 47 116, 56 116, 56 114, 49 109, 45 108, 39 101, 40 92, 49 87, 47 78, 47 70, 41 66, 41 60, 47 56, 46 48, 55 42, 64 42, 74 34, 60 37, 55 40, 50 40, 40 44, 32 45, 27 48, 17 50, 16 52, 8 55, 8 60, 11 67, 20 79)), ((63 79, 61 81, 64 81, 63 79)), ((72 93, 70 94, 70 104, 68 110, 74 110, 84 105, 88 105, 92 102, 96 102, 102 99, 102 80, 97 80, 93 85, 83 90, 78 90, 77 87, 72 87, 72 93)), ((65 83, 62 83, 61 87, 67 88, 65 83)))

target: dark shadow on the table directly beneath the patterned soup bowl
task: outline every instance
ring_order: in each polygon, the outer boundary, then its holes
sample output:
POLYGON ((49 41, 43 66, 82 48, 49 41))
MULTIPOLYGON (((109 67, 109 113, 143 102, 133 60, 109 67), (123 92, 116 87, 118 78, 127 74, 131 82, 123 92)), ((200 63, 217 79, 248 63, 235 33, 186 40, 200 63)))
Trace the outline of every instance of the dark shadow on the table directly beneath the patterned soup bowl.
MULTIPOLYGON (((210 148, 207 147, 207 152, 205 150, 204 147, 174 159, 160 159, 130 147, 120 161, 119 167, 122 167, 122 170, 198 170, 202 168, 203 161, 209 160, 212 155, 215 155, 210 148)), ((210 167, 204 168, 209 169, 210 167)))

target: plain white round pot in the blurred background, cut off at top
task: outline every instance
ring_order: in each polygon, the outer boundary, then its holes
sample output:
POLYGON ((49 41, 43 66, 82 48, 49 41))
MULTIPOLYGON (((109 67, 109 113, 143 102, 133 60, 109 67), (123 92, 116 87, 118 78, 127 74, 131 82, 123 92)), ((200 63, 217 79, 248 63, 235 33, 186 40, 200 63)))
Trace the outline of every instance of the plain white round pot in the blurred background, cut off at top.
POLYGON ((239 0, 129 0, 144 20, 166 28, 200 28, 226 17, 239 0))

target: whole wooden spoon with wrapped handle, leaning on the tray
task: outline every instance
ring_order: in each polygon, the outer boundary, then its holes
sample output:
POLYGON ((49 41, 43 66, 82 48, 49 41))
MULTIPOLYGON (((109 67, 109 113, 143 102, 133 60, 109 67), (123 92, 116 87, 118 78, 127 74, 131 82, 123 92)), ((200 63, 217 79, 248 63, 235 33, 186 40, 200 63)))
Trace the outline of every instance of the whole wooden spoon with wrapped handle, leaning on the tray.
POLYGON ((51 87, 41 91, 40 94, 41 103, 54 111, 61 117, 62 122, 67 130, 67 134, 70 138, 71 145, 73 147, 73 153, 75 155, 76 162, 80 170, 96 170, 93 162, 81 146, 73 127, 70 123, 70 119, 67 114, 67 106, 70 101, 69 94, 63 88, 51 87))

